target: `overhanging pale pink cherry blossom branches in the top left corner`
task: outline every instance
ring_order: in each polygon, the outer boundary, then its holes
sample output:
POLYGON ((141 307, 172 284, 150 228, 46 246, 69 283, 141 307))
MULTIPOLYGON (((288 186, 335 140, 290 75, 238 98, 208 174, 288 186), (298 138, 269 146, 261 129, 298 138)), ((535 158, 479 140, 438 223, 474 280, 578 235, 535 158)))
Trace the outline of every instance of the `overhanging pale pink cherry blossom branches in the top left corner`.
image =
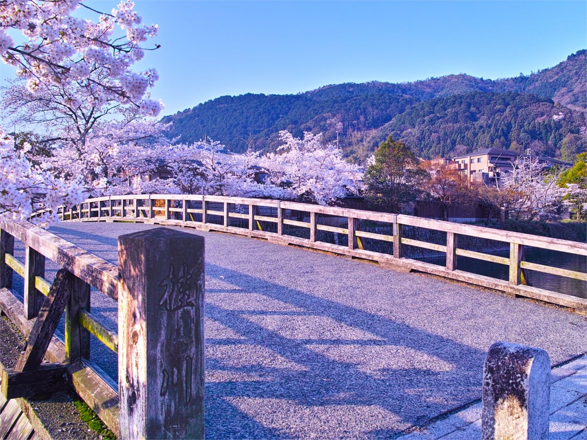
POLYGON ((157 26, 143 25, 131 1, 98 14, 96 22, 73 16, 80 7, 95 11, 82 0, 0 1, 2 61, 16 67, 32 92, 50 84, 64 89, 75 84, 76 94, 65 97, 73 106, 84 97, 98 104, 115 97, 157 116, 160 104, 145 98, 157 71, 131 70, 157 26), (11 29, 20 31, 22 40, 15 41, 11 29))

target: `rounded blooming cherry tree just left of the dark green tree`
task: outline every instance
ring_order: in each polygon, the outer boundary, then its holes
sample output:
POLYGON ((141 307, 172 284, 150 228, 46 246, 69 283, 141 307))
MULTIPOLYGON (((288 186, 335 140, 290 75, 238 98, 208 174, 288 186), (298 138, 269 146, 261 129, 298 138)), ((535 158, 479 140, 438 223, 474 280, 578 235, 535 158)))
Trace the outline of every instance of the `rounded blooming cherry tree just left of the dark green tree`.
POLYGON ((304 133, 300 139, 281 131, 279 136, 284 144, 261 165, 269 181, 285 189, 286 198, 326 205, 358 191, 359 167, 345 161, 335 145, 322 143, 321 135, 304 133))

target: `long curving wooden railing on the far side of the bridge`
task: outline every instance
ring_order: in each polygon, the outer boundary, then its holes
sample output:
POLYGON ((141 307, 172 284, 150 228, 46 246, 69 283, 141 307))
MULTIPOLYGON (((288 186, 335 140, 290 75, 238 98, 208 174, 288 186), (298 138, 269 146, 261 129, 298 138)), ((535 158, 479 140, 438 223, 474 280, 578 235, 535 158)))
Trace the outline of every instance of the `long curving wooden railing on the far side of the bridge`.
POLYGON ((294 244, 334 252, 351 258, 375 260, 390 268, 432 273, 474 285, 490 287, 513 296, 531 297, 571 307, 578 313, 587 314, 587 299, 525 285, 523 275, 525 270, 535 270, 587 281, 587 273, 539 265, 524 260, 525 247, 587 256, 587 243, 500 231, 481 226, 455 224, 409 215, 384 214, 270 199, 210 195, 152 194, 102 197, 88 199, 76 207, 60 208, 59 215, 63 220, 133 221, 181 225, 200 231, 222 231, 265 238, 285 245, 294 244), (389 233, 362 231, 360 227, 362 221, 386 225, 389 227, 389 233), (307 230, 306 236, 308 238, 291 235, 285 231, 286 226, 307 230), (443 231, 446 233, 446 244, 406 238, 402 234, 402 228, 405 226, 443 231), (348 245, 319 241, 318 231, 333 233, 337 238, 346 236, 345 241, 348 242, 348 245), (458 246, 460 236, 502 242, 504 246, 510 248, 510 256, 507 258, 460 248, 458 246), (363 246, 365 239, 392 243, 393 254, 365 249, 363 246), (416 246, 417 248, 446 253, 446 267, 404 258, 404 246, 416 246), (457 256, 459 255, 508 266, 509 279, 502 280, 465 272, 458 268, 457 256))

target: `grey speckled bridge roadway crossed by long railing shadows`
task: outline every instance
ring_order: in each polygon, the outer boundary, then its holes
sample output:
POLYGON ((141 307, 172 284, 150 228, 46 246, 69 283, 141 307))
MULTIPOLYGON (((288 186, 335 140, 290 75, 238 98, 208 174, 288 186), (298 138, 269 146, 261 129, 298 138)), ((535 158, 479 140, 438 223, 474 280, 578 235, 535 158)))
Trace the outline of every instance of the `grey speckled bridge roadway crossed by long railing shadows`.
MULTIPOLYGON (((118 235, 153 227, 49 231, 116 263, 118 235)), ((553 365, 587 353, 587 319, 559 307, 182 230, 206 242, 207 438, 387 438, 480 399, 495 341, 544 348, 553 365)), ((93 295, 92 313, 114 330, 116 311, 93 295)), ((116 357, 96 341, 92 356, 116 377, 116 357)))

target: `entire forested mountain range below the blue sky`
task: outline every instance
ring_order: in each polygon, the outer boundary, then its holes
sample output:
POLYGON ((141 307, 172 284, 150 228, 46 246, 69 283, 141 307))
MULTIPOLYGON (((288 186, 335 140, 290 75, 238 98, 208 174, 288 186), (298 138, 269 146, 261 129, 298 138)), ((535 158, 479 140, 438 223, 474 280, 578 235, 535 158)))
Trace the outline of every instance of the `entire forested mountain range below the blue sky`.
POLYGON ((275 150, 278 132, 323 133, 357 161, 388 134, 421 157, 534 148, 566 159, 587 148, 587 50, 531 75, 448 75, 412 83, 345 83, 289 95, 222 96, 166 116, 181 142, 275 150), (582 128, 583 127, 583 128, 582 128))

